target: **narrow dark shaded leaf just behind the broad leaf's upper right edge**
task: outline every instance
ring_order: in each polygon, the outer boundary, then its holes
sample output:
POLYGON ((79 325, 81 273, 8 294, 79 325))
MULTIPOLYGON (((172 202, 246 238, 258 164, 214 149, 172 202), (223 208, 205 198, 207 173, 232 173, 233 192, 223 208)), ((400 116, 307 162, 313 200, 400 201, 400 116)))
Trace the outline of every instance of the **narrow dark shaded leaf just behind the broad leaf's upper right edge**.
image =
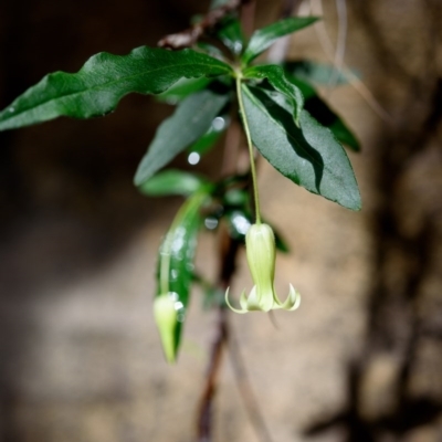
POLYGON ((343 144, 347 145, 351 150, 359 151, 360 144, 355 134, 346 126, 343 119, 319 97, 315 88, 307 82, 302 81, 291 74, 287 75, 290 81, 299 87, 305 103, 304 107, 316 118, 323 126, 328 127, 335 137, 343 144))

